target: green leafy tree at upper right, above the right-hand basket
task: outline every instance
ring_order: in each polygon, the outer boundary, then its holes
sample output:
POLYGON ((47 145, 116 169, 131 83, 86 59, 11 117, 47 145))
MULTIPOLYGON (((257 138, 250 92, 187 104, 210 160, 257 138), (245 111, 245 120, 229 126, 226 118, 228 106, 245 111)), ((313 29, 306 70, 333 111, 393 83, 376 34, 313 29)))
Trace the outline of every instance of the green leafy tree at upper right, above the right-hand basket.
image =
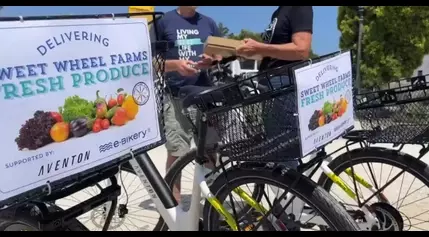
MULTIPOLYGON (((338 8, 342 50, 357 48, 357 13, 356 6, 338 8)), ((427 6, 367 6, 363 28, 360 70, 364 87, 410 77, 429 53, 427 6)))

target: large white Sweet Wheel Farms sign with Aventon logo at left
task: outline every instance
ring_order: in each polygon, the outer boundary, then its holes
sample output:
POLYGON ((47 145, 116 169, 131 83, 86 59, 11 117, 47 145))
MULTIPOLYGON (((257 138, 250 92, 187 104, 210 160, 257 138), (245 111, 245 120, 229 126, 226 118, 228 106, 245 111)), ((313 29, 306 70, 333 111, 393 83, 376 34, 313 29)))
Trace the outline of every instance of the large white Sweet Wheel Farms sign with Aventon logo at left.
POLYGON ((0 32, 0 200, 161 140, 146 19, 0 32))

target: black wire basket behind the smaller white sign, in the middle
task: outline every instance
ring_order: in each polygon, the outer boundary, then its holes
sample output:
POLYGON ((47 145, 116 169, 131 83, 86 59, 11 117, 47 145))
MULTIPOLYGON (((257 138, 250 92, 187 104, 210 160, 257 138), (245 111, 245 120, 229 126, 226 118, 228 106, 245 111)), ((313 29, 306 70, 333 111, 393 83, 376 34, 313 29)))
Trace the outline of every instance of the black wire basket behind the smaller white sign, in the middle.
POLYGON ((295 86, 288 79, 291 67, 242 78, 198 96, 198 109, 206 113, 224 145, 222 155, 236 161, 262 162, 300 157, 295 86), (279 78, 287 78, 287 82, 279 78), (260 93, 252 83, 255 79, 279 83, 268 83, 268 91, 260 93), (244 93, 243 85, 251 93, 244 93))

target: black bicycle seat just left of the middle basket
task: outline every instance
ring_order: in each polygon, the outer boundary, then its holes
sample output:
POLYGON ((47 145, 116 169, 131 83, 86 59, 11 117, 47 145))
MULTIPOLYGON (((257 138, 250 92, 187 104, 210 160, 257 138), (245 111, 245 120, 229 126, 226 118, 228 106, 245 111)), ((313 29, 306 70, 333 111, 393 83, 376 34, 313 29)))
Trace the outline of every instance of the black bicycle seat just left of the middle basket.
MULTIPOLYGON (((216 88, 217 87, 187 85, 179 89, 178 95, 179 98, 182 100, 183 108, 188 108, 197 103, 201 103, 200 98, 204 95, 198 95, 205 94, 206 92, 209 92, 210 90, 214 90, 216 88)), ((225 98, 221 92, 209 93, 207 94, 207 96, 210 97, 210 99, 208 99, 207 101, 210 101, 212 103, 223 102, 225 98)))

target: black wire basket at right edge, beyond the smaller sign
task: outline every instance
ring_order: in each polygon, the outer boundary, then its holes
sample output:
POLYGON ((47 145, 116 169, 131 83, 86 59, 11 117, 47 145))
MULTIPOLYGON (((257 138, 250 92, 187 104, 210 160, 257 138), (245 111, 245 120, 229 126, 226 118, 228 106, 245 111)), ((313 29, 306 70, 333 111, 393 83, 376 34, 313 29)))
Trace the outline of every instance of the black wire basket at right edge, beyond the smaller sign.
MULTIPOLYGON (((388 89, 356 95, 356 117, 372 143, 429 141, 428 75, 398 81, 388 89)), ((385 87, 386 88, 386 87, 385 87)))

